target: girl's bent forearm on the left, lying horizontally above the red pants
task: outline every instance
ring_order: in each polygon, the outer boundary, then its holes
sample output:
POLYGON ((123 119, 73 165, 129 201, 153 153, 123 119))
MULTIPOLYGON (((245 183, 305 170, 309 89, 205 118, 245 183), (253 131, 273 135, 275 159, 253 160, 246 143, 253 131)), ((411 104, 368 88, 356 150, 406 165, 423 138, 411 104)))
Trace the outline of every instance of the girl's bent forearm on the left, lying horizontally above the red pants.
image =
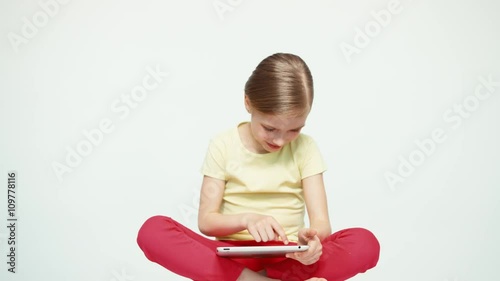
POLYGON ((198 217, 198 228, 207 236, 226 236, 246 229, 245 214, 208 213, 198 217))

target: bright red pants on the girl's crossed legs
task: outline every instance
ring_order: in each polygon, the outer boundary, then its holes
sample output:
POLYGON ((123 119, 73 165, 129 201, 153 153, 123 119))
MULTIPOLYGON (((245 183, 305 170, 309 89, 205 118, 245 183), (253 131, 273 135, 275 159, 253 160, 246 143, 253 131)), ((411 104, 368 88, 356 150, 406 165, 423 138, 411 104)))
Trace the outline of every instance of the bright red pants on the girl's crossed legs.
POLYGON ((323 254, 312 265, 287 258, 221 258, 215 253, 217 247, 283 243, 212 240, 165 216, 149 218, 139 230, 137 243, 149 260, 198 281, 235 281, 245 267, 254 271, 266 269, 270 278, 286 281, 311 277, 340 281, 374 267, 380 251, 377 238, 370 231, 349 228, 323 240, 323 254))

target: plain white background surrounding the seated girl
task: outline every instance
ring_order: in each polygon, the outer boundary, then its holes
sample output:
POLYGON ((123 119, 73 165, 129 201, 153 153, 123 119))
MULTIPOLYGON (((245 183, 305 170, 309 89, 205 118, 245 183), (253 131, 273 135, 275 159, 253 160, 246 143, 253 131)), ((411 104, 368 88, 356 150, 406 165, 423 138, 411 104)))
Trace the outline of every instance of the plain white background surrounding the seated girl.
POLYGON ((17 273, 2 262, 1 280, 186 280, 144 257, 137 230, 156 214, 196 229, 208 140, 248 119, 244 83, 275 52, 314 75, 304 133, 329 167, 334 230, 380 240, 377 267, 352 280, 498 280, 500 86, 473 102, 479 77, 500 81, 499 2, 402 0, 384 27, 372 12, 387 0, 233 0, 219 13, 226 0, 69 1, 44 22, 46 2, 0 4, 2 261, 10 170, 19 219, 17 273), (23 18, 37 30, 23 35, 23 18), (128 116, 113 111, 147 67, 169 75, 128 116), (468 117, 446 121, 464 100, 468 117), (113 131, 58 180, 54 163, 103 119, 113 131), (415 141, 436 129, 446 140, 426 156, 415 141), (391 188, 385 174, 419 153, 391 188))

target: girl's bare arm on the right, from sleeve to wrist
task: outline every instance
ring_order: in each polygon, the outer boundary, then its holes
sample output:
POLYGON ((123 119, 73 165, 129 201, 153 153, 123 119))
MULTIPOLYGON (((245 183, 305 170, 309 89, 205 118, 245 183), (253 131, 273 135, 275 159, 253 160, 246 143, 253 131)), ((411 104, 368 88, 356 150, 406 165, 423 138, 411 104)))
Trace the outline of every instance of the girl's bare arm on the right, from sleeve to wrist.
POLYGON ((316 230, 319 239, 323 241, 332 232, 323 174, 316 174, 303 179, 302 188, 311 224, 310 228, 316 230))

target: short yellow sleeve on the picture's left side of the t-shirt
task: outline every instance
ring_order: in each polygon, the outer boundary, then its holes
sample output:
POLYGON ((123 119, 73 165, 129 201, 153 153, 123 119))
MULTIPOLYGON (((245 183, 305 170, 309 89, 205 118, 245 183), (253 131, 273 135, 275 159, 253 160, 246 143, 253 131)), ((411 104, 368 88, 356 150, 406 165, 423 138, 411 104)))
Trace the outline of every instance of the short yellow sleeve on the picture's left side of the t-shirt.
POLYGON ((208 145, 201 173, 212 178, 226 180, 225 153, 223 144, 212 139, 208 145))

